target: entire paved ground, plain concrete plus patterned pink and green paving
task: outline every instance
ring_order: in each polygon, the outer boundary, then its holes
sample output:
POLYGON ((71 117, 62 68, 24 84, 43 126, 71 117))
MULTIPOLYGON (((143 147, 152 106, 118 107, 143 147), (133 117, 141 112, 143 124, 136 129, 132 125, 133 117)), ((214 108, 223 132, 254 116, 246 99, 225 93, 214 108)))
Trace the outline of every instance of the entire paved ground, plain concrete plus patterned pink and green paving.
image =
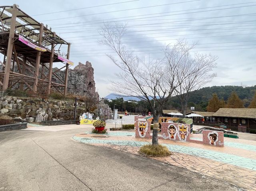
POLYGON ((172 155, 153 159, 138 153, 151 140, 135 138, 134 130, 91 128, 29 124, 1 132, 0 191, 256 190, 255 141, 225 138, 221 148, 159 140, 172 155))

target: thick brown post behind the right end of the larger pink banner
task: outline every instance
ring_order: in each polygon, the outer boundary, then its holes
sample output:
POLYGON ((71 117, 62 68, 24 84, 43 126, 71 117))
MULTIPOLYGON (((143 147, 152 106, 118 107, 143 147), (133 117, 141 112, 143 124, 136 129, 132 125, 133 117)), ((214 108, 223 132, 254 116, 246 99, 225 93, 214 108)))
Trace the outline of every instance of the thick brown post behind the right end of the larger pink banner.
MULTIPOLYGON (((44 29, 44 24, 41 23, 40 30, 39 30, 39 39, 38 39, 39 46, 42 45, 43 29, 44 29)), ((41 54, 42 54, 41 51, 37 51, 37 54, 36 54, 36 67, 35 67, 35 74, 34 74, 35 81, 34 81, 34 85, 33 85, 33 92, 34 93, 37 92, 41 54)))

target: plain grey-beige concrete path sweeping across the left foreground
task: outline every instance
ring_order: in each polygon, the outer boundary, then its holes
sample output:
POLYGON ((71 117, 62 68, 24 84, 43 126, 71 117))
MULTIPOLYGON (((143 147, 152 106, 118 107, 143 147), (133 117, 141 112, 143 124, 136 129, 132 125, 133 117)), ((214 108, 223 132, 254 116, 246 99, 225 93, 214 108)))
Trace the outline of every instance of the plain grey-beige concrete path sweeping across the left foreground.
POLYGON ((238 190, 182 167, 76 142, 72 136, 91 126, 70 127, 0 132, 0 191, 238 190))

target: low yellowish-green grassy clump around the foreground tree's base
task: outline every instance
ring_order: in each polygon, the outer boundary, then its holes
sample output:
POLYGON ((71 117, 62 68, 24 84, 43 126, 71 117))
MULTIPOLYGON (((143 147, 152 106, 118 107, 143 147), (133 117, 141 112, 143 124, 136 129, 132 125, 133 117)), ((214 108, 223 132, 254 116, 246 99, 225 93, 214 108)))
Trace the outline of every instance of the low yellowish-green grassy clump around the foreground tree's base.
POLYGON ((171 155, 168 148, 162 145, 144 145, 140 148, 139 152, 152 157, 165 157, 171 155))

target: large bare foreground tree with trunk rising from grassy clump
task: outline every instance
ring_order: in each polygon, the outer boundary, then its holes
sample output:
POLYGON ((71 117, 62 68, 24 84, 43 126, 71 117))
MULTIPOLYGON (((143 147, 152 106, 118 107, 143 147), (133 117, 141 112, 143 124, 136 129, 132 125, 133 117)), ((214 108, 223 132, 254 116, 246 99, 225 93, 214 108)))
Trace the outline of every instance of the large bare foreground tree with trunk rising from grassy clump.
MULTIPOLYGON (((178 72, 183 68, 182 64, 190 49, 181 47, 179 43, 168 52, 172 57, 168 60, 142 61, 132 51, 127 51, 122 38, 126 33, 126 25, 110 26, 104 24, 100 35, 103 39, 100 43, 111 47, 117 57, 108 57, 120 68, 117 73, 119 81, 112 81, 112 90, 115 93, 135 96, 148 102, 154 118, 152 144, 158 144, 158 119, 162 114, 162 108, 173 95, 176 87, 182 83, 177 79, 178 72)), ((167 53, 167 51, 166 51, 167 53)))

